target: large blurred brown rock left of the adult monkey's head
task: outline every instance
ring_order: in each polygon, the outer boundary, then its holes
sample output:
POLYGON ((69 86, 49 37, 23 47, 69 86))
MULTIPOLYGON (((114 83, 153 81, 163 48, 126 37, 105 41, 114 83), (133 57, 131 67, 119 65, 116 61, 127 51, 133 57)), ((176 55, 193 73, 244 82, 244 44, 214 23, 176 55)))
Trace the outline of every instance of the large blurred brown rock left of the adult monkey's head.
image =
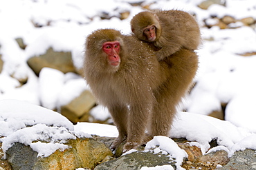
POLYGON ((46 51, 46 54, 33 56, 27 62, 37 76, 43 67, 54 68, 63 73, 76 72, 71 52, 55 52, 52 47, 46 51))

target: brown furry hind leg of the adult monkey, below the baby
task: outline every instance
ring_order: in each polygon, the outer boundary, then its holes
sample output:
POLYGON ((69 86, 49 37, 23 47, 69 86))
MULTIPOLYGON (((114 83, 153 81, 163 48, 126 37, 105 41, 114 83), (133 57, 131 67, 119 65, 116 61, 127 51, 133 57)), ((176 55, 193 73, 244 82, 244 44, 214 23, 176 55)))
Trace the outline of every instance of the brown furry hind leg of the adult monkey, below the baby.
POLYGON ((196 74, 198 56, 195 52, 182 48, 162 62, 169 65, 165 70, 169 77, 155 92, 157 103, 151 118, 152 136, 169 136, 172 121, 176 115, 176 106, 188 92, 196 74))

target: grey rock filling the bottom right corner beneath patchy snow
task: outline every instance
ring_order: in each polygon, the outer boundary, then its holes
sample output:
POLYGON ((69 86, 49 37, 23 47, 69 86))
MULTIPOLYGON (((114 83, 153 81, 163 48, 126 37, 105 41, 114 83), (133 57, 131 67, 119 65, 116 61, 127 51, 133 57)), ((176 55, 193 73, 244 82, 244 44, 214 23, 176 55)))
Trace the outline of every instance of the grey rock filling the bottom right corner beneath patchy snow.
POLYGON ((245 149, 244 151, 236 151, 230 158, 230 162, 218 170, 252 170, 256 169, 256 154, 255 150, 245 149))

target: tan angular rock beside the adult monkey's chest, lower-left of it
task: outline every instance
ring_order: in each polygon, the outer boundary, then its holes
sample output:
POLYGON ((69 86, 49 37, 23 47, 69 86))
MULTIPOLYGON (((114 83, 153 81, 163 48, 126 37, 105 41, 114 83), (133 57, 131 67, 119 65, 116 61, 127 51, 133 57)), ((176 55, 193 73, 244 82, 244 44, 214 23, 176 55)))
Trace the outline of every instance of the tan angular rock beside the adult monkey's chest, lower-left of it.
POLYGON ((80 96, 73 99, 71 103, 62 106, 60 113, 68 118, 68 120, 71 120, 72 123, 77 123, 80 121, 81 117, 83 117, 84 120, 84 116, 88 115, 89 110, 95 105, 95 103, 96 100, 93 94, 91 94, 89 90, 85 90, 80 94, 80 96))

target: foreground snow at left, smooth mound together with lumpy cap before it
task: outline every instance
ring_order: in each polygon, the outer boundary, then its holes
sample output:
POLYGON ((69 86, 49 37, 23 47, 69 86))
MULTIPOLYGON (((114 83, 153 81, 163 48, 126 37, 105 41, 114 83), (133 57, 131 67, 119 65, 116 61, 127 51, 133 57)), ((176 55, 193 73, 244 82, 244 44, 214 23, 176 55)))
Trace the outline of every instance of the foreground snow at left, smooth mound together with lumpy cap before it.
POLYGON ((74 131, 73 124, 61 114, 19 100, 0 100, 0 127, 3 152, 20 142, 41 157, 50 156, 57 149, 64 151, 68 139, 91 138, 89 134, 74 131))

